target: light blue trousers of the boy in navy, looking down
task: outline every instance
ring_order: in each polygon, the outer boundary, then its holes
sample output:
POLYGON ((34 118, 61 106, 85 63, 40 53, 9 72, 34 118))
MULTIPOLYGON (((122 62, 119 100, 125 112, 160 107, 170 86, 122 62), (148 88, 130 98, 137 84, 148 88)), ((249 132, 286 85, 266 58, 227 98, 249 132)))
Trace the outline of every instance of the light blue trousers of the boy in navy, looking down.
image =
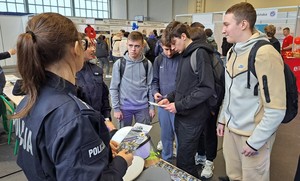
POLYGON ((175 114, 158 107, 160 139, 163 145, 162 159, 170 162, 173 156, 173 141, 176 137, 174 128, 175 114))

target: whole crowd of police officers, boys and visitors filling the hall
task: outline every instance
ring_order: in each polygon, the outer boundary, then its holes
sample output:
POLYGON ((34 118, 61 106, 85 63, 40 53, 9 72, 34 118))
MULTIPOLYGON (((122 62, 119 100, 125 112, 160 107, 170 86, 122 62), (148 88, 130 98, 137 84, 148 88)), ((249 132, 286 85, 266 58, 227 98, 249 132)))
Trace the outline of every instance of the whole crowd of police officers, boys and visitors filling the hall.
POLYGON ((177 167, 196 178, 211 178, 220 136, 227 174, 220 180, 270 180, 272 145, 286 110, 285 86, 278 86, 285 85, 281 54, 291 50, 293 37, 284 28, 280 46, 275 26, 262 33, 255 22, 250 3, 225 12, 225 97, 212 109, 208 102, 216 88, 211 62, 218 45, 201 22, 172 21, 160 35, 156 30, 148 36, 120 31, 109 47, 90 25, 85 34, 57 13, 33 16, 17 41, 26 94, 13 116, 20 139, 18 165, 29 180, 122 180, 133 154, 119 151, 110 138, 133 121, 151 124, 156 112, 150 101, 160 105, 162 159, 172 162, 176 152, 177 167), (251 76, 251 83, 259 93, 254 95, 246 72, 249 52, 259 40, 272 44, 256 54, 257 78, 251 76), (110 85, 104 75, 111 78, 110 85))

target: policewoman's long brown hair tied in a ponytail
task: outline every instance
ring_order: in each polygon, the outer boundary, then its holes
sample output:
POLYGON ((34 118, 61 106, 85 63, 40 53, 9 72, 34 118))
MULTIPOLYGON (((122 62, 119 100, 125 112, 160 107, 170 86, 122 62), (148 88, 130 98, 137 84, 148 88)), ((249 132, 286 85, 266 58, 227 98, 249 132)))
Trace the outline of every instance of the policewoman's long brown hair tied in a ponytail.
POLYGON ((46 83, 46 68, 64 61, 69 47, 79 40, 74 23, 58 13, 41 13, 28 22, 26 33, 17 41, 18 70, 23 79, 22 91, 28 96, 25 107, 13 118, 26 116, 34 106, 41 86, 46 83))

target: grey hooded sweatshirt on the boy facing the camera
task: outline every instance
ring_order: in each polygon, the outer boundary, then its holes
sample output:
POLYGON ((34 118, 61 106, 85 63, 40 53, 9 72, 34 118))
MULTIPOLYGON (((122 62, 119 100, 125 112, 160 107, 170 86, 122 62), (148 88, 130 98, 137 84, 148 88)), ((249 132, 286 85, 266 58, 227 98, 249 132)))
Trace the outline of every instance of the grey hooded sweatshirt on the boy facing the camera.
MULTIPOLYGON (((138 60, 132 60, 128 53, 124 55, 126 66, 122 80, 120 80, 121 59, 114 63, 110 94, 112 107, 116 112, 120 110, 138 110, 149 107, 148 101, 154 101, 151 91, 153 77, 152 64, 148 60, 148 76, 143 65, 144 55, 138 60), (146 80, 147 78, 147 80, 146 80)), ((154 109, 150 106, 150 109, 154 109)))

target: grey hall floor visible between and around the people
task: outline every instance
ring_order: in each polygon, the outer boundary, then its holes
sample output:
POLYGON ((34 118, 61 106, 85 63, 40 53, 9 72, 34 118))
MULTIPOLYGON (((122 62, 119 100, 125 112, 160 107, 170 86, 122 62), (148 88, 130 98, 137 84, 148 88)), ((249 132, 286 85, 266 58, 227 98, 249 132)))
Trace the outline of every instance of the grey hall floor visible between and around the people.
MULTIPOLYGON (((110 79, 105 79, 109 85, 110 79)), ((113 120, 114 123, 115 120, 113 120)), ((160 127, 157 117, 152 121, 153 128, 150 135, 156 145, 160 137, 160 127)), ((286 125, 280 125, 277 131, 276 141, 271 156, 271 181, 292 181, 294 180, 300 153, 300 115, 286 125)), ((14 141, 7 144, 7 135, 3 133, 0 123, 0 180, 23 181, 27 180, 22 170, 16 164, 16 156, 13 155, 14 141)), ((209 179, 217 181, 219 176, 225 175, 225 164, 222 154, 222 139, 219 138, 218 154, 214 161, 214 176, 209 179)), ((201 170, 199 170, 201 171, 201 170)))

